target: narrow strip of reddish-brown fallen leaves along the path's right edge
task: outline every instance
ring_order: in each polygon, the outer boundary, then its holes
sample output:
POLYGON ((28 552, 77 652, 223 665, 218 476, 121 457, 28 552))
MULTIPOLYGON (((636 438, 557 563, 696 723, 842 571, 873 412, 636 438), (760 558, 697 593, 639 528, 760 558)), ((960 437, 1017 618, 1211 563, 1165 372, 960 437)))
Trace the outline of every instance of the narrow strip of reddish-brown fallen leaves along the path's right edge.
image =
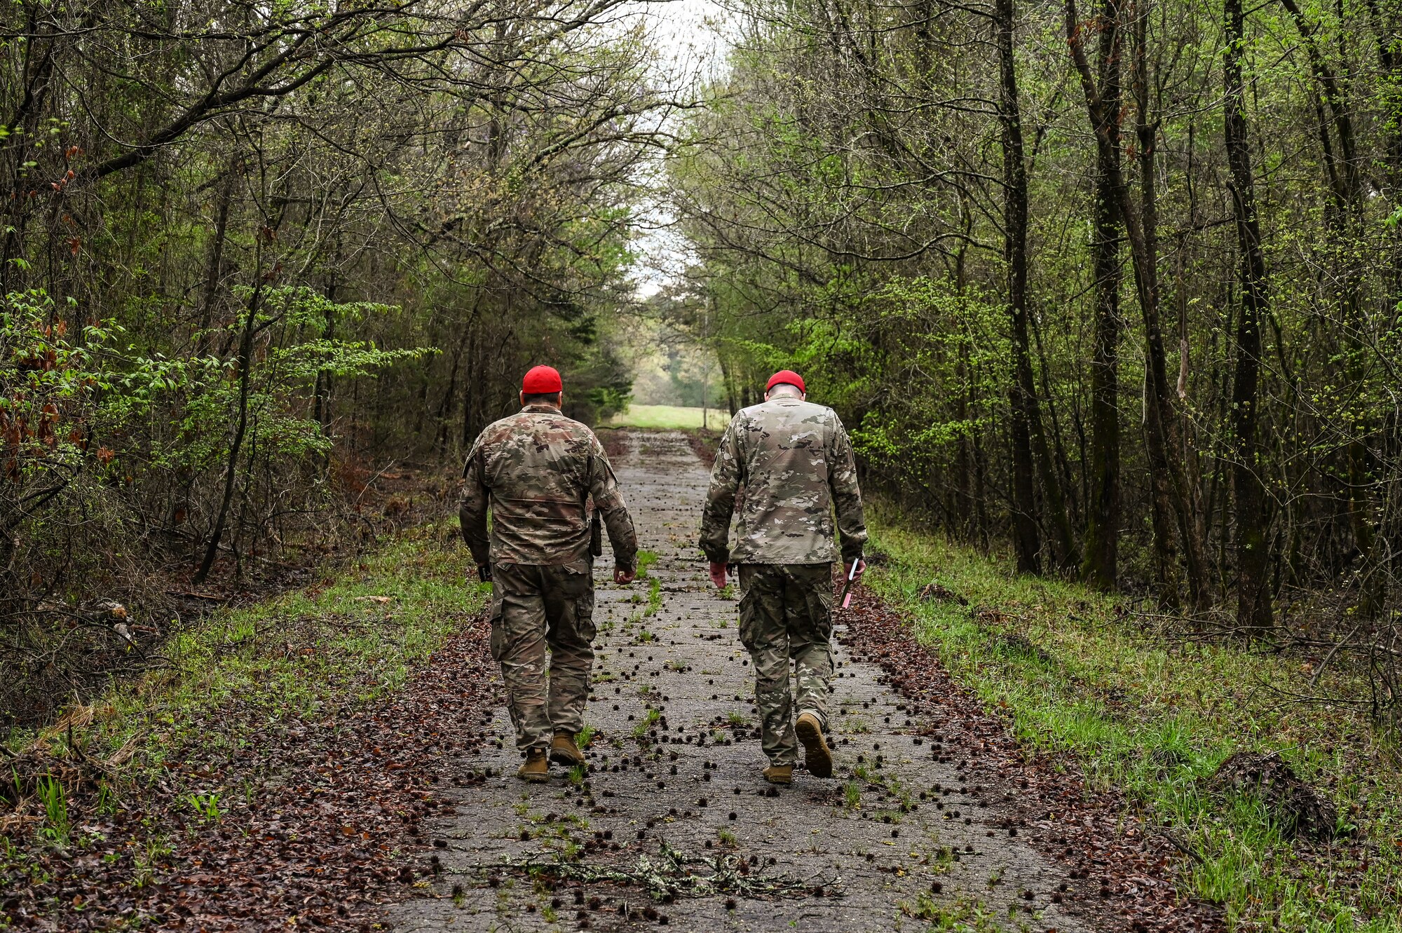
POLYGON ((851 608, 841 614, 852 654, 879 664, 911 712, 930 723, 925 733, 937 758, 1002 790, 1001 807, 1009 815, 1000 834, 1021 836, 1066 866, 1066 883, 1053 899, 1066 899, 1099 929, 1224 929, 1221 911, 1175 890, 1182 852, 1166 836, 1147 831, 1120 796, 1089 792, 1067 756, 1039 755, 1019 744, 1004 720, 916 642, 897 612, 862 586, 852 593, 851 608))

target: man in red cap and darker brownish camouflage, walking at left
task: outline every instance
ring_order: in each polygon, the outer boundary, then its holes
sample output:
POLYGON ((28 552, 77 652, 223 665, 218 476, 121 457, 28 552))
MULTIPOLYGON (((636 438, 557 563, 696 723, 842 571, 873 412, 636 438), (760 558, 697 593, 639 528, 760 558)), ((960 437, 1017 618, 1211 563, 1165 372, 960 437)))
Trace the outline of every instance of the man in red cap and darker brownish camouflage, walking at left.
POLYGON ((520 413, 489 424, 472 444, 458 509, 478 576, 492 583, 492 657, 502 665, 516 747, 526 755, 517 776, 534 782, 550 779, 547 749, 557 763, 585 761, 575 742, 594 660, 600 517, 615 583, 634 580, 638 556, 608 458, 593 431, 561 415, 561 401, 559 373, 538 366, 526 374, 520 413))

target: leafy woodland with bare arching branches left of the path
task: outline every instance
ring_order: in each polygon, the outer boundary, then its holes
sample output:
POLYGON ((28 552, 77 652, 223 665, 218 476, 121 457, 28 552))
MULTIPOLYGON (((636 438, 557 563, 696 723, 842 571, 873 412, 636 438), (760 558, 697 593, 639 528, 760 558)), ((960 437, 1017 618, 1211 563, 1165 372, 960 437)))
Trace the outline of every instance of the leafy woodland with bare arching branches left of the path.
POLYGON ((613 318, 676 101, 641 17, 226 7, 55 8, 39 70, 0 7, 0 721, 139 671, 191 570, 373 542, 404 461, 457 461, 529 366, 590 423, 629 398, 613 318), (137 644, 67 630, 100 601, 137 644))

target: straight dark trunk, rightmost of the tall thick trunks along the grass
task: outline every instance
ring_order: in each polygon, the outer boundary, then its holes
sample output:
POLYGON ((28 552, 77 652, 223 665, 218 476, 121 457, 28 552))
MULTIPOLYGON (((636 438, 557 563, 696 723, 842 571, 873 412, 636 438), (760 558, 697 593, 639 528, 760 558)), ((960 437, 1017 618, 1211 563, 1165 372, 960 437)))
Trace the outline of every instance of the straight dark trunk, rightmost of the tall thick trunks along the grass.
POLYGON ((1266 305, 1266 258, 1256 219, 1256 182, 1251 170, 1241 55, 1245 15, 1241 0, 1225 0, 1227 49, 1224 130, 1231 172, 1232 213, 1237 221, 1241 308, 1237 315, 1237 367, 1232 377, 1234 465, 1237 499, 1237 625, 1263 636, 1272 629, 1270 552, 1266 541, 1266 489, 1260 481, 1256 441, 1260 402, 1260 321, 1266 305))

